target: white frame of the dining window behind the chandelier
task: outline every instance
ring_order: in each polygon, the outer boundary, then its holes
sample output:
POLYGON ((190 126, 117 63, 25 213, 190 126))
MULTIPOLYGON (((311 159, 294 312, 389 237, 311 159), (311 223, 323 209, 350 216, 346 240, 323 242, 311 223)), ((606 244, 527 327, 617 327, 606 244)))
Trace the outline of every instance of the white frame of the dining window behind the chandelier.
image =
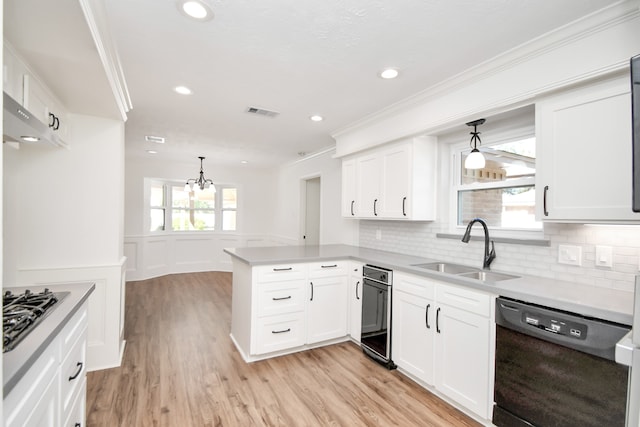
POLYGON ((241 190, 238 185, 235 184, 218 184, 214 183, 216 188, 215 192, 215 202, 214 209, 212 210, 215 215, 214 221, 214 229, 213 230, 174 230, 173 229, 173 211, 175 210, 197 210, 197 211, 210 211, 210 209, 202 209, 202 208, 174 208, 173 207, 173 191, 172 187, 184 187, 184 181, 177 180, 168 180, 168 179, 157 179, 157 178, 145 178, 145 191, 144 191, 144 211, 145 211, 145 220, 144 220, 144 230, 146 234, 149 235, 163 235, 163 234, 171 234, 171 233, 197 233, 197 234, 234 234, 238 233, 240 224, 240 194, 241 190), (163 185, 164 188, 164 212, 165 212, 165 223, 164 230, 151 230, 151 209, 156 208, 156 206, 151 206, 151 187, 152 185, 163 185), (222 229, 222 212, 223 212, 223 203, 222 203, 222 189, 224 188, 235 188, 236 190, 236 207, 235 209, 226 208, 224 210, 235 210, 236 212, 236 229, 235 230, 223 230, 222 229))

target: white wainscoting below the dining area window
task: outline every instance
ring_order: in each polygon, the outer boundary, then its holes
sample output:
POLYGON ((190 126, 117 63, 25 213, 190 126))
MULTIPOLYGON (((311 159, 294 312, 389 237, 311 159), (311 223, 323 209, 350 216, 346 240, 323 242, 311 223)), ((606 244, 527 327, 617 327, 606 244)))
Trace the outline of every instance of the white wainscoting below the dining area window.
POLYGON ((292 239, 228 233, 167 233, 125 236, 127 280, 145 280, 173 273, 232 271, 225 248, 295 245, 292 239))

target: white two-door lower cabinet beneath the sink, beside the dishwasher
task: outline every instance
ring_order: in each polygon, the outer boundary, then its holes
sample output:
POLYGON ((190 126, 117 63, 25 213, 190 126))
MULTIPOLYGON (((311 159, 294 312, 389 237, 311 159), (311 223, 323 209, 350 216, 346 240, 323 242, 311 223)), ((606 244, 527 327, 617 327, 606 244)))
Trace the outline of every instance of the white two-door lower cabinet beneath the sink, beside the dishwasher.
POLYGON ((393 360, 439 393, 488 419, 495 338, 487 293, 394 273, 393 360))

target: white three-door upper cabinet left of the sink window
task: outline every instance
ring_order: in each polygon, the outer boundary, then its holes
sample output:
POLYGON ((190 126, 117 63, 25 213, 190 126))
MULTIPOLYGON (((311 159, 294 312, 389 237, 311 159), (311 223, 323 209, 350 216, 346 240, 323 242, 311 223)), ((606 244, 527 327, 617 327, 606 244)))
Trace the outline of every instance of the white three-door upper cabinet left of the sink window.
POLYGON ((436 145, 416 137, 343 160, 343 216, 434 220, 436 145))

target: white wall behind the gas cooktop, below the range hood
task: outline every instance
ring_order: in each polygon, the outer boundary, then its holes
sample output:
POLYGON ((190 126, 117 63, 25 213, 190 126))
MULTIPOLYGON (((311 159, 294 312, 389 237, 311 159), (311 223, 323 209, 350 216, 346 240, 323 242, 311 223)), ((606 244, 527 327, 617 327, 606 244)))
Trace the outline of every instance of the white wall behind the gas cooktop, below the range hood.
POLYGON ((91 281, 87 364, 124 348, 124 124, 70 114, 69 149, 3 148, 3 287, 91 281))

